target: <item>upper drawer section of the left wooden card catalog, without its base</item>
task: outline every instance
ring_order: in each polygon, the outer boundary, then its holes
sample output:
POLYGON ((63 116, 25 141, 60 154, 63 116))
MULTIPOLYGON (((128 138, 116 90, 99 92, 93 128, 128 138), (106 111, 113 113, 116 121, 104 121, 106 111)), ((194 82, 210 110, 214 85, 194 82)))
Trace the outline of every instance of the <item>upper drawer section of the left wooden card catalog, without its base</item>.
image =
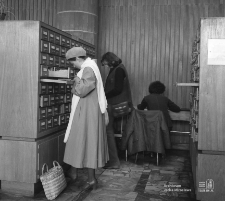
POLYGON ((65 54, 83 46, 71 35, 38 21, 1 22, 0 136, 39 138, 65 129, 75 70, 65 54), (47 80, 47 82, 46 82, 47 80))

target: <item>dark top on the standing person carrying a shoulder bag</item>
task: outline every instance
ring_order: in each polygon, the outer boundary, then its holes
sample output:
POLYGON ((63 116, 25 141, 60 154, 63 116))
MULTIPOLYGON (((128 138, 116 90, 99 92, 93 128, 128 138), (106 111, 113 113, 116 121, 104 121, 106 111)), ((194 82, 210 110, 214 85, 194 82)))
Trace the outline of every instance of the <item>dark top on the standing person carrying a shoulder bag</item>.
POLYGON ((106 78, 105 94, 108 104, 114 105, 125 101, 132 103, 130 83, 128 80, 127 71, 123 64, 119 64, 117 67, 110 70, 110 73, 106 78), (120 82, 116 81, 117 72, 120 72, 120 75, 122 72, 120 82), (120 87, 116 87, 118 85, 120 87), (117 88, 120 88, 119 93, 116 93, 117 88))

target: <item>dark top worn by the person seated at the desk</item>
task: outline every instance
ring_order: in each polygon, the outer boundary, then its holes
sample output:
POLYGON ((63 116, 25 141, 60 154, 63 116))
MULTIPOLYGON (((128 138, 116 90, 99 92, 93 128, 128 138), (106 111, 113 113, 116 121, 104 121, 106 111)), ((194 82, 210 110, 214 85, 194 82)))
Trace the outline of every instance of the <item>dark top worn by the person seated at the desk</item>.
POLYGON ((179 106, 166 96, 160 94, 150 94, 145 96, 137 108, 139 110, 144 110, 145 108, 147 108, 147 110, 161 110, 164 114, 168 128, 172 127, 172 121, 168 110, 171 110, 172 112, 180 112, 179 106))

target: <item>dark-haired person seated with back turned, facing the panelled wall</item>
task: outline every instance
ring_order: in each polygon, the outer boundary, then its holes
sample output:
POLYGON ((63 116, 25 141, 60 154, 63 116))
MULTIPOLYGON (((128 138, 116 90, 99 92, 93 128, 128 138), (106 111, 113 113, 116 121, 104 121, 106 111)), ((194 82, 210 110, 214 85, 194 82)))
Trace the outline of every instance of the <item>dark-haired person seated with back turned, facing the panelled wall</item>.
POLYGON ((180 112, 180 107, 164 96, 165 85, 160 81, 152 82, 149 85, 149 95, 145 96, 141 104, 137 106, 139 110, 161 110, 164 114, 169 131, 172 130, 172 121, 168 110, 172 112, 180 112))

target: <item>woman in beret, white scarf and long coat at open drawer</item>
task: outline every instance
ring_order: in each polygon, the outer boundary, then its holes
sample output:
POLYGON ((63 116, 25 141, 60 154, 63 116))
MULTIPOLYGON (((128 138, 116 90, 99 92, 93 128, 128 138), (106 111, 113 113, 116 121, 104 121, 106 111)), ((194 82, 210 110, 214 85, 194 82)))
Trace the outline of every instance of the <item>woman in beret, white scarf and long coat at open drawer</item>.
POLYGON ((80 71, 72 87, 73 100, 64 142, 64 162, 72 167, 69 174, 76 178, 76 168, 88 169, 84 188, 96 188, 95 169, 108 161, 105 127, 105 98, 102 78, 96 63, 86 57, 81 47, 73 47, 66 58, 80 71))

